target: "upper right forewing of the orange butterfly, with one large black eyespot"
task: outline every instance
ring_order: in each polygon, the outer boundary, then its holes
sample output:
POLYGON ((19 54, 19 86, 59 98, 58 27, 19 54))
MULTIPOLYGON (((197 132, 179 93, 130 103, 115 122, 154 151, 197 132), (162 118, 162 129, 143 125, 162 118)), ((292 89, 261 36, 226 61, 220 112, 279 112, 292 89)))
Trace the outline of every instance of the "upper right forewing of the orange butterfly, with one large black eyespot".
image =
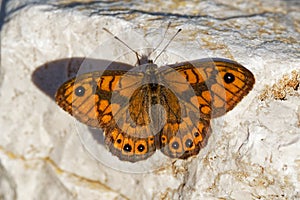
MULTIPOLYGON (((210 119, 232 110, 253 88, 253 74, 232 60, 211 58, 170 65, 193 88, 201 117, 210 119)), ((179 97, 180 94, 178 93, 179 97)))

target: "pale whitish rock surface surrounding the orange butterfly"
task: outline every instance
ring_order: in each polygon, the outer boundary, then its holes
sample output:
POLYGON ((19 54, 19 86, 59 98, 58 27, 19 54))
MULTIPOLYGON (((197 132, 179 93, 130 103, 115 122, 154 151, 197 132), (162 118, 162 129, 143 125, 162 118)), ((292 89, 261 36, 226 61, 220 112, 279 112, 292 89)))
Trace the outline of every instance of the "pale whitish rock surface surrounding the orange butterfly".
POLYGON ((300 198, 298 1, 45 2, 2 4, 1 198, 300 198), (251 70, 256 84, 212 121, 197 157, 139 168, 147 173, 121 161, 107 166, 85 150, 78 123, 53 99, 81 57, 135 64, 103 27, 134 49, 155 47, 164 37, 166 44, 181 28, 159 65, 224 57, 251 70))

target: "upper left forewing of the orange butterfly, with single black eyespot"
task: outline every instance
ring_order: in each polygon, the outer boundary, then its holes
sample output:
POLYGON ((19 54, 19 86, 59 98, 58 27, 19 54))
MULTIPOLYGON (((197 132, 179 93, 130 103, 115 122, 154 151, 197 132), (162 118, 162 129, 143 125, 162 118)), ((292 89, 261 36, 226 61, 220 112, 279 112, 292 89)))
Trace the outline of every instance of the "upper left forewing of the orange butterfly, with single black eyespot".
POLYGON ((96 128, 111 123, 111 93, 126 71, 97 71, 81 74, 62 84, 56 103, 78 121, 96 128))

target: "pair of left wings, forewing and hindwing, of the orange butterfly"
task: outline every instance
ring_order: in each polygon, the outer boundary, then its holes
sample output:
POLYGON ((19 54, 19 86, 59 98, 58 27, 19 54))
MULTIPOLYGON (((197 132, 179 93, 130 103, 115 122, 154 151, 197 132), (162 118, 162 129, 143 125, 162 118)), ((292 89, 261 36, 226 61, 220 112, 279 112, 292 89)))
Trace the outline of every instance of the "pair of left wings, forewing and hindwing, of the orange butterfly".
POLYGON ((138 119, 132 120, 131 113, 149 107, 144 95, 147 91, 137 88, 143 76, 122 70, 82 74, 57 90, 56 102, 80 122, 103 129, 106 146, 121 160, 143 160, 156 150, 152 129, 143 126, 146 113, 139 117, 142 125, 136 126, 138 119))

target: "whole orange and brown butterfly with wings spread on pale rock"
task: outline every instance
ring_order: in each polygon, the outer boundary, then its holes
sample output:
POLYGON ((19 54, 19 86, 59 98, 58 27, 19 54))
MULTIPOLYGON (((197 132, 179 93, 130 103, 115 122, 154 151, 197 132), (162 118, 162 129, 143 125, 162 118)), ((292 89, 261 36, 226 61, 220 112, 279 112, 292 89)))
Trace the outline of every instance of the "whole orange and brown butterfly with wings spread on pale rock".
POLYGON ((232 110, 255 83, 248 69, 227 59, 158 67, 142 58, 130 69, 120 63, 118 70, 78 75, 56 93, 61 108, 103 130, 106 147, 123 161, 145 160, 156 150, 170 158, 197 155, 211 119, 232 110))

